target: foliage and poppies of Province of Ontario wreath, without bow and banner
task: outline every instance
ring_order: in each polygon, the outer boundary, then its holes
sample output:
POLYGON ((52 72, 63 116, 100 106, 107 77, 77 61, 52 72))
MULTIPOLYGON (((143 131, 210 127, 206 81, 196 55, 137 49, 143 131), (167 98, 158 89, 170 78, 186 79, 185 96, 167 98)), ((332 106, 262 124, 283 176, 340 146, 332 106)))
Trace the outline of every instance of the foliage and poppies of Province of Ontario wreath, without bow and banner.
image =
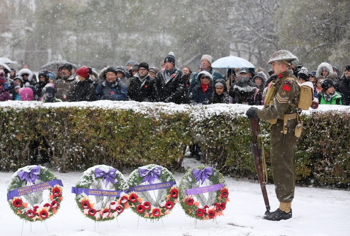
MULTIPOLYGON (((19 189, 30 189, 33 185, 38 185, 57 178, 46 167, 40 166, 40 175, 37 175, 35 183, 21 180, 18 173, 21 171, 30 172, 33 168, 38 167, 36 165, 26 166, 19 168, 11 177, 10 184, 7 188, 7 192, 19 189)), ((60 185, 54 185, 53 187, 38 190, 28 194, 24 194, 18 197, 14 197, 8 200, 12 211, 18 215, 19 218, 26 221, 46 220, 53 217, 61 206, 63 200, 63 191, 60 185), (47 194, 47 197, 45 196, 47 194)))

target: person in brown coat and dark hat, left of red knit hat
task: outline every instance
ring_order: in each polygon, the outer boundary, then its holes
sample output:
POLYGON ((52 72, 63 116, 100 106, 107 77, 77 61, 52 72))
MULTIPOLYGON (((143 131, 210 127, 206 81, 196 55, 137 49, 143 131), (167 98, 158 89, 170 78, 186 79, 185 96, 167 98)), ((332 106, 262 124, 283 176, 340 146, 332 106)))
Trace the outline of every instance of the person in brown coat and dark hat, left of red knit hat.
POLYGON ((59 68, 61 76, 55 80, 56 97, 59 100, 69 101, 74 84, 76 84, 72 69, 73 67, 70 63, 66 63, 59 68))

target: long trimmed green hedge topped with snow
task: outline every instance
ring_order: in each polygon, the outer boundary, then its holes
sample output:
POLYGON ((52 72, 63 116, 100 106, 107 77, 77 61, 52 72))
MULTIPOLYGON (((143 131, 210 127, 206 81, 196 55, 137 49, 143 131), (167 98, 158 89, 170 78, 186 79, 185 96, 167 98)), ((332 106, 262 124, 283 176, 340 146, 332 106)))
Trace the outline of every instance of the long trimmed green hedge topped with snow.
MULTIPOLYGON (((158 164, 180 170, 184 152, 201 138, 206 160, 234 177, 256 176, 250 150, 249 120, 241 104, 205 106, 134 101, 0 104, 0 168, 38 164, 37 150, 50 155, 60 171, 106 164, 135 169, 158 164)), ((302 115, 297 146, 297 181, 348 187, 350 184, 349 109, 315 110, 302 115)), ((339 108, 339 106, 334 106, 339 108)), ((267 167, 268 123, 262 123, 267 167)), ((269 180, 272 173, 268 171, 269 180)))

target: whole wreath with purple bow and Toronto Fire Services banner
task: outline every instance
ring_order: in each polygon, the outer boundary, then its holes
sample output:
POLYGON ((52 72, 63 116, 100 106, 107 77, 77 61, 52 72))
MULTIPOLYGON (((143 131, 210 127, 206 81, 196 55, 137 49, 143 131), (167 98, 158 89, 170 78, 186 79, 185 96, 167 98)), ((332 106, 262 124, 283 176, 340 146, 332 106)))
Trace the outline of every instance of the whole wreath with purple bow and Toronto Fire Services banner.
POLYGON ((128 178, 132 211, 145 219, 158 220, 170 214, 178 190, 173 174, 154 164, 135 169, 128 178))

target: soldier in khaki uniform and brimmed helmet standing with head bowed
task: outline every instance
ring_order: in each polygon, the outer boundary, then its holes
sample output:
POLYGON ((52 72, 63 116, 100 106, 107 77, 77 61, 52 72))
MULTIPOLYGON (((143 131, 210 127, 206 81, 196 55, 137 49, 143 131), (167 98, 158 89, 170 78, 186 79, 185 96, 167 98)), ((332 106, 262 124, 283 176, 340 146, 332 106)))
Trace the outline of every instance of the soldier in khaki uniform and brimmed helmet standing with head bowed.
POLYGON ((272 54, 269 64, 277 75, 267 90, 264 107, 250 107, 248 118, 258 117, 271 124, 271 166, 275 182, 275 191, 280 207, 267 213, 263 219, 281 220, 292 217, 296 165, 295 148, 300 136, 299 114, 297 108, 300 88, 297 79, 290 69, 297 57, 286 50, 272 54))

